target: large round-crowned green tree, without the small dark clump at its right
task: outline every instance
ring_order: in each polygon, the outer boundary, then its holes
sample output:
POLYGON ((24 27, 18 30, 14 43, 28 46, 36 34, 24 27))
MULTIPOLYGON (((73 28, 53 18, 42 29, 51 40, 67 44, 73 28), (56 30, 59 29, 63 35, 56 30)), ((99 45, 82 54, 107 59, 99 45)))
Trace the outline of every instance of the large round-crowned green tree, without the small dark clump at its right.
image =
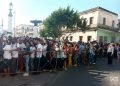
POLYGON ((62 35, 62 28, 66 28, 66 30, 70 30, 75 26, 76 14, 73 9, 67 8, 59 8, 54 11, 46 20, 44 21, 44 26, 49 34, 54 34, 55 37, 59 38, 62 35), (50 33, 51 32, 51 33, 50 33))

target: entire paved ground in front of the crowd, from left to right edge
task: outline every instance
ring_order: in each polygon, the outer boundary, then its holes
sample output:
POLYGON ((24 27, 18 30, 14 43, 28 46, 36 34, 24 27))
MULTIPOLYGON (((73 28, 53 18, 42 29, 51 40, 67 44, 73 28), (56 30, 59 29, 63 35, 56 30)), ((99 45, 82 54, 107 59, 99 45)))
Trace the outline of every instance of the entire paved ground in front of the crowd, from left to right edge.
POLYGON ((0 78, 0 86, 120 86, 120 63, 114 60, 113 65, 107 65, 106 58, 98 58, 90 69, 81 65, 56 73, 0 78))

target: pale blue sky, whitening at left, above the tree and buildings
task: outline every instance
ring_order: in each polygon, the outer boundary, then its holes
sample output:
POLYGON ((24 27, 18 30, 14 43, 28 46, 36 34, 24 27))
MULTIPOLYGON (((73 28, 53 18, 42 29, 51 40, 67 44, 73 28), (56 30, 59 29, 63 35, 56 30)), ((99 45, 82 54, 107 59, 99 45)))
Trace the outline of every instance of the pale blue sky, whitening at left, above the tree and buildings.
MULTIPOLYGON (((0 25, 8 26, 9 3, 13 3, 13 22, 31 24, 30 20, 44 20, 59 7, 70 6, 78 12, 101 6, 120 16, 120 0, 0 0, 0 25)), ((119 17, 120 18, 120 17, 119 17)))

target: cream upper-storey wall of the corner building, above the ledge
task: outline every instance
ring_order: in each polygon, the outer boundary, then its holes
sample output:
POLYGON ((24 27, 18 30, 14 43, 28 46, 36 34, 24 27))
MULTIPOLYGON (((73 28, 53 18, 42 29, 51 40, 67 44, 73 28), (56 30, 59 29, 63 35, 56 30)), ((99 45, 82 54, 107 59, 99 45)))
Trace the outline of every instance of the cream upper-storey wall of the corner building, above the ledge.
POLYGON ((112 21, 114 20, 114 27, 117 28, 118 16, 101 9, 89 13, 80 14, 80 18, 82 17, 87 18, 88 25, 90 23, 90 17, 94 17, 93 24, 91 25, 91 27, 96 27, 98 24, 103 24, 103 18, 105 17, 106 25, 112 26, 112 21))

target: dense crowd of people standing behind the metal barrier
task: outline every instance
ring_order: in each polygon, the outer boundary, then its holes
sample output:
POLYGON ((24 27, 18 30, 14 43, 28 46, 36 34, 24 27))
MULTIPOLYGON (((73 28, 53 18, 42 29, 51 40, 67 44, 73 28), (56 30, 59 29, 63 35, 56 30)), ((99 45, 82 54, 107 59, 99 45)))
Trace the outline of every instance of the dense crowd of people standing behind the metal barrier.
POLYGON ((43 70, 67 70, 81 64, 91 67, 96 64, 97 57, 108 57, 108 64, 112 64, 113 57, 120 61, 120 44, 1 37, 0 56, 2 76, 13 76, 17 73, 29 76, 43 70))

